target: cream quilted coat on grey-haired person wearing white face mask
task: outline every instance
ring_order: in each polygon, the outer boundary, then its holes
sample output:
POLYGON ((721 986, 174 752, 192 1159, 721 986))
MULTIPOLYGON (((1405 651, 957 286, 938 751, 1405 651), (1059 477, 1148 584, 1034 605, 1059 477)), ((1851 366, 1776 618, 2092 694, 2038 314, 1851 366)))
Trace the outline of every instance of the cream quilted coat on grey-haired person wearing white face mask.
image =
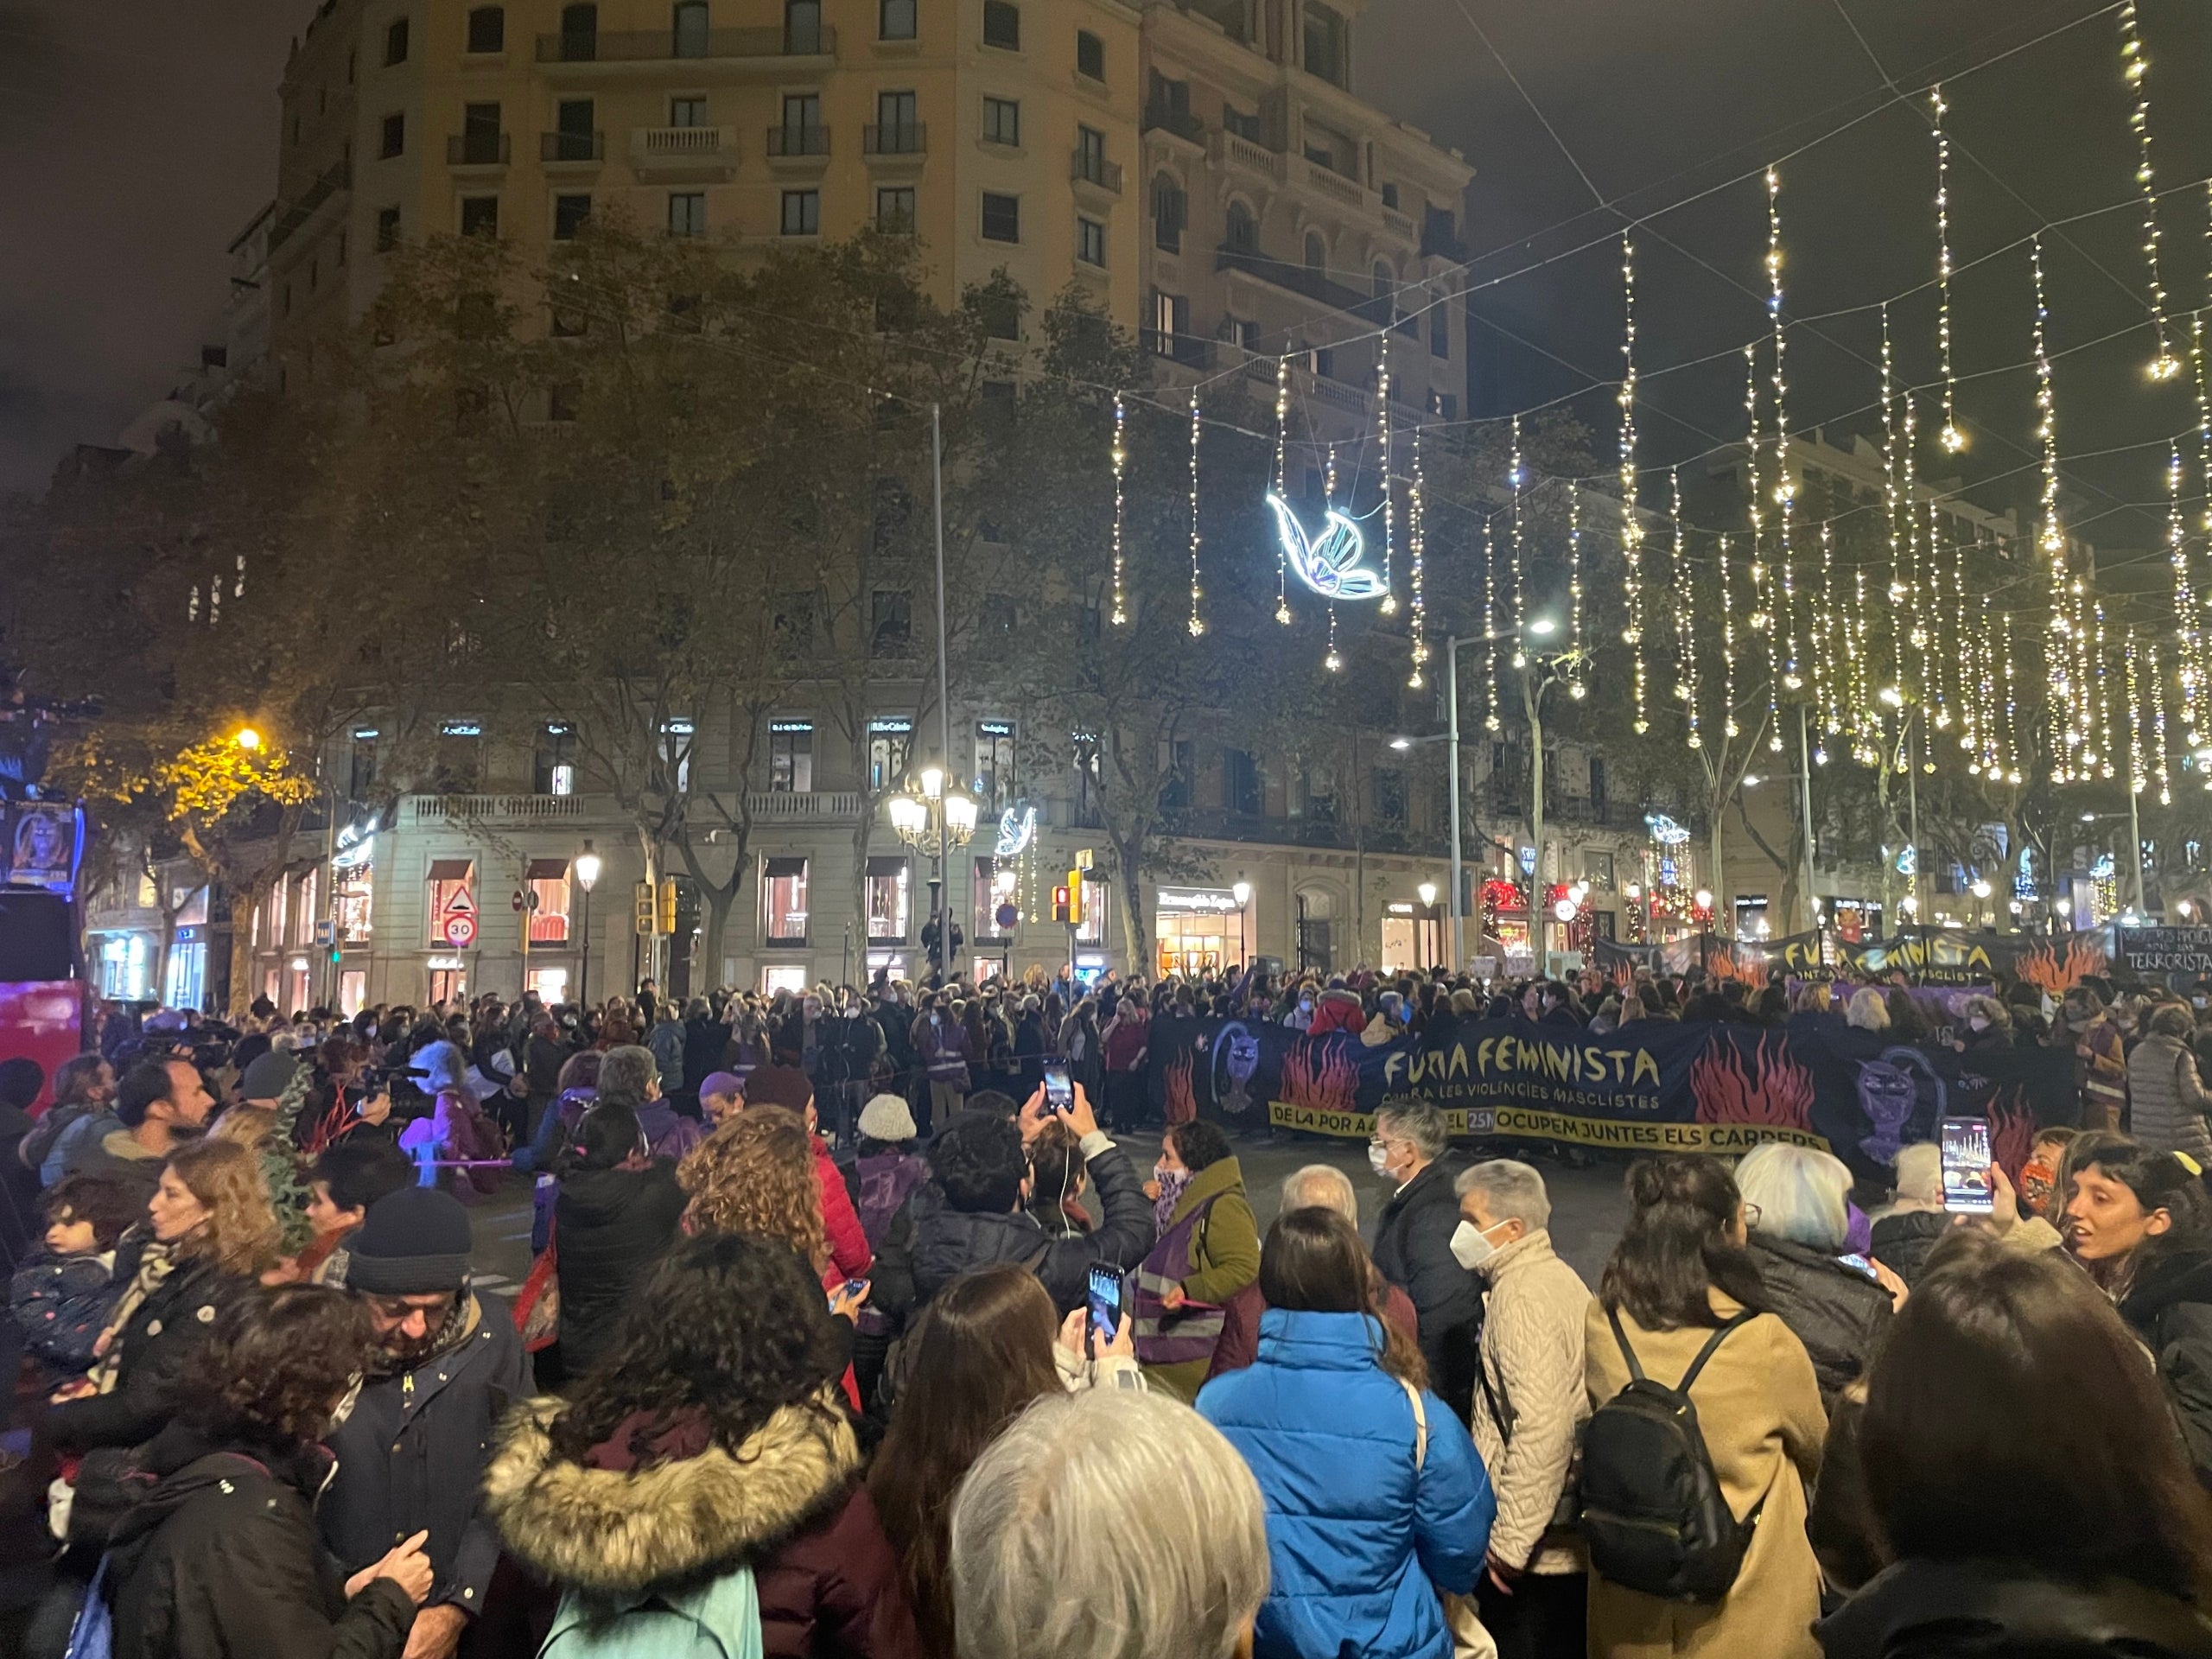
POLYGON ((1590 1287, 1559 1261, 1548 1232, 1531 1232, 1491 1256, 1475 1387, 1475 1451, 1498 1493, 1491 1555, 1531 1573, 1579 1573, 1575 1546, 1537 1548, 1575 1460, 1575 1429, 1590 1418, 1584 1387, 1584 1316, 1590 1287), (1506 1440, 1491 1409, 1513 1418, 1506 1440))

